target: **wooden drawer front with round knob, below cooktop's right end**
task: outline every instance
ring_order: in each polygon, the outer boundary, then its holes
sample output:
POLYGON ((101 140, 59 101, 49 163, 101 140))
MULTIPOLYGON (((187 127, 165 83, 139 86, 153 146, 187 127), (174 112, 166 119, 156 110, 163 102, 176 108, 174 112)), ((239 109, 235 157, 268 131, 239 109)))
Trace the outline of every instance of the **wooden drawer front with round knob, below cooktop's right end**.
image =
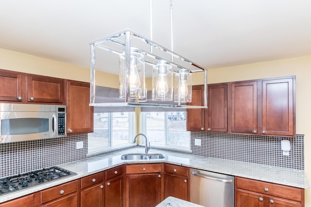
POLYGON ((78 180, 71 181, 50 189, 41 191, 41 204, 52 201, 56 198, 68 195, 78 190, 78 180))

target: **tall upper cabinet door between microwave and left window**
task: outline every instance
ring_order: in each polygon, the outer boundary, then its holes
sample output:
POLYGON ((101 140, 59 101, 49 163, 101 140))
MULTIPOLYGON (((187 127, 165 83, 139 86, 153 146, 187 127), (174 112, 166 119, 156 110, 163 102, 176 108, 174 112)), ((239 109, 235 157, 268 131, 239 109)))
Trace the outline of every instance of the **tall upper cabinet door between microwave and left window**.
POLYGON ((93 107, 89 106, 89 83, 67 82, 67 133, 93 132, 93 107))

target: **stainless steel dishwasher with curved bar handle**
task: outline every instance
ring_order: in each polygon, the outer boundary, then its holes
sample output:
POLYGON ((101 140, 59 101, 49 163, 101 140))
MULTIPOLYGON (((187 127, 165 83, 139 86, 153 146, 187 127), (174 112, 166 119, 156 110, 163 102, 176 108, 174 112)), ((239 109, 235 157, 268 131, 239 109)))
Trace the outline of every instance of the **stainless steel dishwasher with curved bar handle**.
POLYGON ((190 169, 190 202, 204 207, 234 207, 234 176, 190 169))

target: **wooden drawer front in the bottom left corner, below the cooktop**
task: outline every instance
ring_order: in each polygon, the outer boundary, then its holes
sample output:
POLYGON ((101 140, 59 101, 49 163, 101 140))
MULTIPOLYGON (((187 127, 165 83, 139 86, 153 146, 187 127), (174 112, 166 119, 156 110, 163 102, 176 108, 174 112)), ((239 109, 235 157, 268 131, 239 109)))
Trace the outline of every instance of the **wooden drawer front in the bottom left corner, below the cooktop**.
POLYGON ((2 203, 0 207, 40 207, 39 193, 33 193, 2 203))

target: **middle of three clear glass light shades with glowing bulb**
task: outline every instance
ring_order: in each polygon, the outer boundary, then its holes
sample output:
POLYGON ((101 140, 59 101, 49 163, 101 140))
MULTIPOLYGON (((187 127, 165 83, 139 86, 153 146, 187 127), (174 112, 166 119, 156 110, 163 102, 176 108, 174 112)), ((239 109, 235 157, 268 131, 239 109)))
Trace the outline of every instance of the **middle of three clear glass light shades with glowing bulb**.
POLYGON ((173 100, 173 69, 168 61, 158 61, 153 67, 152 100, 173 100))

